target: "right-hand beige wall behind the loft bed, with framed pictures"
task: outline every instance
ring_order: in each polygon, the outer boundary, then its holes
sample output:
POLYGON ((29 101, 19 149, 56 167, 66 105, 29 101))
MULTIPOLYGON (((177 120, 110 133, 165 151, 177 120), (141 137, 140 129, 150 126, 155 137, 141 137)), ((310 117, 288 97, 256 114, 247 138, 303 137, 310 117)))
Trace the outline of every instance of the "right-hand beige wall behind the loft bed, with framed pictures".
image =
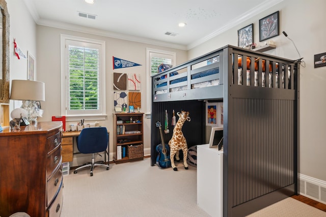
MULTIPOLYGON (((301 174, 326 181, 326 67, 314 69, 314 54, 326 52, 326 1, 285 0, 250 20, 188 51, 189 59, 226 44, 237 46, 237 29, 254 23, 254 41, 259 44, 258 20, 280 11, 280 36, 272 38, 277 48, 267 51, 276 56, 298 59, 299 56, 291 38, 306 67, 300 73, 300 170, 301 174)), ((261 42, 263 43, 263 42, 261 42)))

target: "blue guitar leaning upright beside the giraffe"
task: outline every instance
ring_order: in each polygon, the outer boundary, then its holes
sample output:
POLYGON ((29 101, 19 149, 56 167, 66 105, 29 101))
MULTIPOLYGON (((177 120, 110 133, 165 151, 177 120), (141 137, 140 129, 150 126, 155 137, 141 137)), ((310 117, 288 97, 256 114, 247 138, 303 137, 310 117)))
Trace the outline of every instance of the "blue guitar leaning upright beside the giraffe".
POLYGON ((164 143, 162 127, 159 121, 156 122, 156 127, 159 128, 159 134, 162 142, 161 144, 156 145, 156 164, 161 168, 171 167, 170 146, 164 143))

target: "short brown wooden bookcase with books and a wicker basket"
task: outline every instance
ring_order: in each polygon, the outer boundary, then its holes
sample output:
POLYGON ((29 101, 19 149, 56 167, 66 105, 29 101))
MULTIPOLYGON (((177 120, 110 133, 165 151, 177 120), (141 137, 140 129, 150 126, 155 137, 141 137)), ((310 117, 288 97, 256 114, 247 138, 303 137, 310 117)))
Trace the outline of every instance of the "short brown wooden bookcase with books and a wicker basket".
POLYGON ((114 113, 113 148, 116 164, 144 159, 144 113, 114 113))

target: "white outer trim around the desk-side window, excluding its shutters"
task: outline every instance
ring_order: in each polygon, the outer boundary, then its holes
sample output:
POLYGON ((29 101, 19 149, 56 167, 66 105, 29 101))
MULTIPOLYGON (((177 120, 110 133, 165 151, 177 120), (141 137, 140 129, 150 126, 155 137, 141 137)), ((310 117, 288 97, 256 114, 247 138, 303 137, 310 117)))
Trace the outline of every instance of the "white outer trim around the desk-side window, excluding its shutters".
POLYGON ((80 121, 80 119, 86 120, 105 120, 106 119, 106 102, 105 102, 105 41, 69 36, 69 35, 60 35, 60 55, 61 55, 61 115, 66 116, 67 121, 80 121), (66 40, 74 40, 87 43, 100 44, 103 49, 100 51, 100 100, 101 100, 101 110, 102 114, 85 114, 85 115, 67 115, 66 114, 66 102, 67 102, 67 83, 66 83, 66 40))

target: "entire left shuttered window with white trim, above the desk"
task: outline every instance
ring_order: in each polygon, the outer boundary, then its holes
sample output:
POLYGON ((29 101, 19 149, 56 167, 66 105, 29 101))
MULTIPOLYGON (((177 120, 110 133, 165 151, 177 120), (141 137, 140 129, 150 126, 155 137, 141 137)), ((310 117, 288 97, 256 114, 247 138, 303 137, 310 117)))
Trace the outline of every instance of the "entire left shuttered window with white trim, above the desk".
POLYGON ((62 35, 61 48, 62 115, 103 119, 105 42, 62 35))

